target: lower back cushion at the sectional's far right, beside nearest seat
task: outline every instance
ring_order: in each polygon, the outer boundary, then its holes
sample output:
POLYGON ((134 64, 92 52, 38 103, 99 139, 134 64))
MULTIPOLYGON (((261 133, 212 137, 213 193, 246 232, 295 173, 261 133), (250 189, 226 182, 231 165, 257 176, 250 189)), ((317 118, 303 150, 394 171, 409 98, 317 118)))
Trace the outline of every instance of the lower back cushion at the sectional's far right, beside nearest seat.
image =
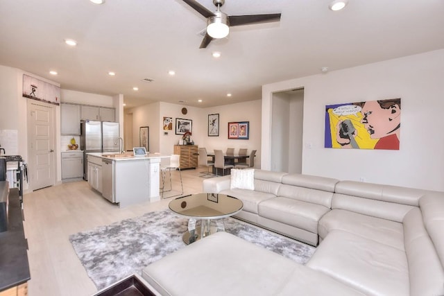
MULTIPOLYGON (((410 295, 444 295, 444 270, 422 223, 421 211, 413 208, 406 215, 404 241, 409 262, 410 295)), ((443 228, 441 228, 441 234, 443 228)), ((442 236, 442 235, 441 235, 442 236)))

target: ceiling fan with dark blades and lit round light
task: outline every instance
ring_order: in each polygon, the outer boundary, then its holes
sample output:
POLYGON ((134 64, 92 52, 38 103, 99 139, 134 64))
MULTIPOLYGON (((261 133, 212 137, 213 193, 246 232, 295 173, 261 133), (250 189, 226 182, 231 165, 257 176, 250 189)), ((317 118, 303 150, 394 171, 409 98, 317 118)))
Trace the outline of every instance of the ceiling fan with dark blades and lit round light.
POLYGON ((217 7, 215 12, 207 10, 196 0, 183 0, 191 8, 196 10, 207 18, 207 33, 200 43, 200 49, 205 49, 213 39, 226 37, 230 32, 230 26, 241 26, 248 24, 268 23, 271 21, 280 21, 280 13, 271 13, 268 15, 226 15, 221 12, 221 6, 225 0, 213 0, 217 7))

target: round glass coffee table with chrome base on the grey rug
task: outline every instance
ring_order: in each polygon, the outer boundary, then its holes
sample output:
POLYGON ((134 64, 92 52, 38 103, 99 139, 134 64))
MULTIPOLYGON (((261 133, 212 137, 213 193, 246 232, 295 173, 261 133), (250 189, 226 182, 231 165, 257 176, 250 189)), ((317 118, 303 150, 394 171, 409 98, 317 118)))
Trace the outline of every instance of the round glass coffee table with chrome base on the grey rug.
POLYGON ((241 200, 219 193, 191 194, 169 202, 171 211, 189 218, 188 231, 183 235, 187 245, 214 232, 225 231, 222 218, 239 213, 243 207, 241 200), (200 225, 197 225, 199 221, 200 225), (212 226, 212 221, 216 225, 212 226))

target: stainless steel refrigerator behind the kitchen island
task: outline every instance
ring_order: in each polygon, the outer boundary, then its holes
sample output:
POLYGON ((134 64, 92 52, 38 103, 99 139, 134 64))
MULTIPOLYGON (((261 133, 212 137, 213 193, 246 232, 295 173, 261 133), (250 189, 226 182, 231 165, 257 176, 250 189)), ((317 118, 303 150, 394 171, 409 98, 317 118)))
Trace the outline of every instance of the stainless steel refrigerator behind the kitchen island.
POLYGON ((83 179, 88 180, 87 153, 119 152, 114 145, 119 137, 119 123, 108 121, 80 122, 80 149, 83 150, 83 179))

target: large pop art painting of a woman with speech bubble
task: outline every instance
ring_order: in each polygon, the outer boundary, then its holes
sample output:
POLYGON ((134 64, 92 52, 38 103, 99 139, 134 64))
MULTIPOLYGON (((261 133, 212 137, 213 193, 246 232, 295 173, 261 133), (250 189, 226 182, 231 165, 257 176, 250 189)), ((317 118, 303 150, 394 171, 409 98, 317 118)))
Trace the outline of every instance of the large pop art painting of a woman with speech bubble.
POLYGON ((325 106, 325 148, 400 149, 401 99, 325 106))

